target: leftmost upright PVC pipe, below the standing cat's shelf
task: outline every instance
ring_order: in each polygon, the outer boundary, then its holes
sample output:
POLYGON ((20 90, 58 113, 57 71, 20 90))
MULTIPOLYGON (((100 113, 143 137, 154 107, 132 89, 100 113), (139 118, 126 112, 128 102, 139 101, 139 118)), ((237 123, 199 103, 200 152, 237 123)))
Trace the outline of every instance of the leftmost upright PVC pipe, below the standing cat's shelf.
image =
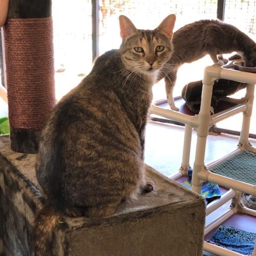
POLYGON ((192 126, 185 124, 181 168, 189 168, 191 138, 192 138, 192 126))

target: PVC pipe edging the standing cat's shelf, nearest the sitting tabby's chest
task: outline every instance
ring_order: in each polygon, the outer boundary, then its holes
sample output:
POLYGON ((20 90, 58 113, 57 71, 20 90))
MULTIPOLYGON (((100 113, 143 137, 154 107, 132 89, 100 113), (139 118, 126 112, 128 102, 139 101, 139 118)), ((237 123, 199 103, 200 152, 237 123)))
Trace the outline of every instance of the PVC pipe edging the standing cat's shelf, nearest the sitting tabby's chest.
POLYGON ((154 104, 151 104, 150 113, 159 115, 161 117, 165 117, 171 120, 175 120, 177 122, 187 123, 193 127, 198 126, 197 116, 191 116, 191 115, 183 114, 174 110, 164 109, 154 104))

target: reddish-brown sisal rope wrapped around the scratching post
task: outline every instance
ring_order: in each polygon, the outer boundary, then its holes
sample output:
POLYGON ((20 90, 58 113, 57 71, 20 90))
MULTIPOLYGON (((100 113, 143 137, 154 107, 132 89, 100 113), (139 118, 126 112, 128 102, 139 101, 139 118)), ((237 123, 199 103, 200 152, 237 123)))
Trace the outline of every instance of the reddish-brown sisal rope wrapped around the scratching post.
POLYGON ((41 130, 55 105, 52 18, 8 19, 4 39, 10 126, 41 130))

